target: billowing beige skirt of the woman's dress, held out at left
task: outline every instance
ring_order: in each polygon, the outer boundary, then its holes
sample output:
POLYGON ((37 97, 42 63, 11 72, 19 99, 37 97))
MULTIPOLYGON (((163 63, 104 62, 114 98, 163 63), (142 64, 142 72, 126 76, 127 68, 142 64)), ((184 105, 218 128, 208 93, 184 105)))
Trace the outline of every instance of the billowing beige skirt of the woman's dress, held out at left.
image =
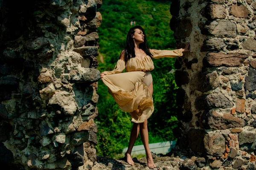
POLYGON ((154 111, 153 98, 148 86, 143 82, 145 75, 148 77, 149 74, 143 71, 132 71, 102 77, 102 81, 107 85, 119 108, 130 112, 131 121, 135 123, 144 122, 154 111))

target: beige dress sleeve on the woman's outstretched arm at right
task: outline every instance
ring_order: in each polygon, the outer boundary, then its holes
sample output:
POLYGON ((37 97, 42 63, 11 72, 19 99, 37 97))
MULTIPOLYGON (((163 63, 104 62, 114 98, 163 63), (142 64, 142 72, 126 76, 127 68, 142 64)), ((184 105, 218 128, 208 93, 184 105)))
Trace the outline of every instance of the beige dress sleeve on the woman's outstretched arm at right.
POLYGON ((152 58, 154 59, 160 59, 164 57, 169 57, 169 58, 175 58, 175 57, 180 57, 182 56, 182 51, 183 49, 177 49, 177 50, 155 50, 151 49, 151 54, 153 55, 152 58))

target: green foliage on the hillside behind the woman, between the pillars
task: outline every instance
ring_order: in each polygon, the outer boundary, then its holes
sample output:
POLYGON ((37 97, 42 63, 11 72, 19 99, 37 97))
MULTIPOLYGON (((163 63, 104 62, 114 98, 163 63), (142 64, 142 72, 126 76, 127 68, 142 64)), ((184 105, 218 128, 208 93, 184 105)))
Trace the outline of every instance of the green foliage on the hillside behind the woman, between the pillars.
MULTIPOLYGON (((102 25, 99 27, 99 71, 113 70, 120 52, 125 48, 126 34, 136 25, 145 29, 148 44, 153 49, 173 49, 175 40, 169 28, 171 19, 169 0, 104 0, 99 11, 102 14, 102 25), (154 10, 155 9, 155 10, 154 10)), ((175 105, 174 74, 169 71, 174 68, 175 59, 165 58, 154 60, 155 69, 152 71, 154 84, 155 111, 148 119, 149 142, 174 140, 172 129, 177 125, 175 105)), ((116 157, 122 149, 128 146, 132 127, 129 113, 118 108, 108 88, 99 81, 99 116, 97 154, 100 156, 116 157)), ((140 136, 135 145, 142 144, 140 136)))

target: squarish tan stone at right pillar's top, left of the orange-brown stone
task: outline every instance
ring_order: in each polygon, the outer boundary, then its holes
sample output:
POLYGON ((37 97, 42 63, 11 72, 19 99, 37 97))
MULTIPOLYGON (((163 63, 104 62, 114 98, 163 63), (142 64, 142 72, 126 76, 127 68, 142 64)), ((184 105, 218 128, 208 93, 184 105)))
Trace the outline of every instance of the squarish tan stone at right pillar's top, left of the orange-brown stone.
POLYGON ((221 19, 226 17, 225 7, 217 4, 210 4, 206 7, 207 17, 210 19, 221 19))

